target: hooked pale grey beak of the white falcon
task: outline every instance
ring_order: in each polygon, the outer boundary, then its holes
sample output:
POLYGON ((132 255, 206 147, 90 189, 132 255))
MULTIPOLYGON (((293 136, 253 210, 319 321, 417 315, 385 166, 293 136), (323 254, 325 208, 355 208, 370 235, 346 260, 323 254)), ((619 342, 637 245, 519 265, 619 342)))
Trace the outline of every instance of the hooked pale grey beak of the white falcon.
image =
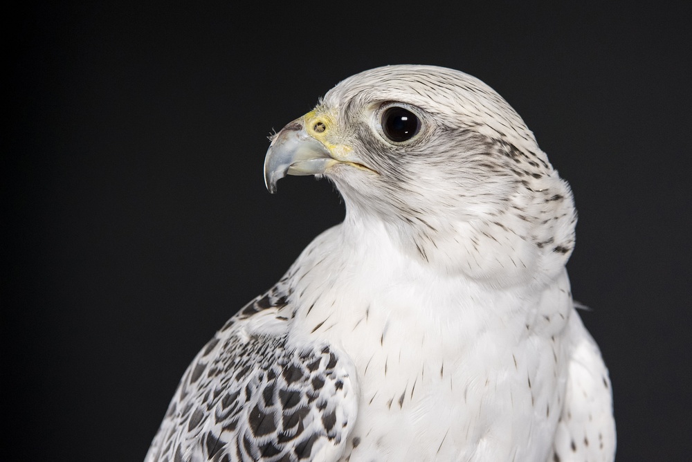
POLYGON ((264 184, 274 194, 276 183, 286 175, 316 175, 339 161, 322 142, 313 138, 305 129, 301 117, 286 125, 271 140, 264 158, 264 184))

